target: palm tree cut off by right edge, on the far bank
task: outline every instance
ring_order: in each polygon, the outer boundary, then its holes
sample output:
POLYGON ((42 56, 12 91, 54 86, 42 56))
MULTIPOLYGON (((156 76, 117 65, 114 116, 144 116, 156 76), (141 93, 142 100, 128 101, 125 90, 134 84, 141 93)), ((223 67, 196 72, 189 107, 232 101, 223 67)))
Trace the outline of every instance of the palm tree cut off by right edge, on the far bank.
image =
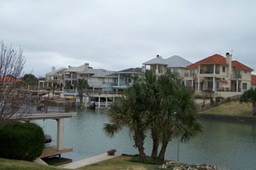
POLYGON ((256 88, 245 91, 240 98, 240 102, 251 102, 253 106, 253 116, 256 115, 256 88))

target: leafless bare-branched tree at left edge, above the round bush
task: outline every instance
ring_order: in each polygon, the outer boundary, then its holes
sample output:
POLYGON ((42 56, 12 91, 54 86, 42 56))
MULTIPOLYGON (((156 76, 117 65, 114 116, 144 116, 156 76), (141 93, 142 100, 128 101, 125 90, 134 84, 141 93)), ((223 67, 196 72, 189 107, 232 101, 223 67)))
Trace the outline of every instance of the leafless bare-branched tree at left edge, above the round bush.
POLYGON ((25 62, 21 48, 15 50, 0 42, 0 127, 12 116, 19 117, 29 112, 24 105, 30 97, 19 81, 25 62))

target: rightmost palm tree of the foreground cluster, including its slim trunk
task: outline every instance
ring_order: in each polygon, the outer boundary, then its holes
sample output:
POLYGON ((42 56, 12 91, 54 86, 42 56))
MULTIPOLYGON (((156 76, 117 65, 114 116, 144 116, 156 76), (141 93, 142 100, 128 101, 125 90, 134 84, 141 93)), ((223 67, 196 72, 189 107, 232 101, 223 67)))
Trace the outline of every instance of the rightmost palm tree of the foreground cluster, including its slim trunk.
POLYGON ((158 159, 164 161, 166 147, 173 138, 188 141, 202 131, 197 107, 188 88, 175 75, 158 78, 160 91, 160 142, 158 159))

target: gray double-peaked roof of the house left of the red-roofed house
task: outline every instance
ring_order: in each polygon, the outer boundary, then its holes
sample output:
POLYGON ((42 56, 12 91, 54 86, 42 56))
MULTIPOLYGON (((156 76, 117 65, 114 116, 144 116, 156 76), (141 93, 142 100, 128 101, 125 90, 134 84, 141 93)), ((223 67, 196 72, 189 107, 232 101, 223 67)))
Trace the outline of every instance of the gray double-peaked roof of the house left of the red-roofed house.
POLYGON ((156 57, 150 59, 149 61, 143 63, 143 65, 167 65, 167 67, 186 67, 192 63, 187 59, 183 59, 178 55, 173 55, 167 59, 162 59, 161 57, 156 57))

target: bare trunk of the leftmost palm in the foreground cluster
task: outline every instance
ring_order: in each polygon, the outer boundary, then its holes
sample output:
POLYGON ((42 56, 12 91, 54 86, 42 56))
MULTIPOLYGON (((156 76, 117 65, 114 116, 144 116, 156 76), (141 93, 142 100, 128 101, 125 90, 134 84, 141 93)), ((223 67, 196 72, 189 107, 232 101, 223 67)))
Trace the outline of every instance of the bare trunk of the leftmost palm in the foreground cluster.
POLYGON ((144 133, 139 132, 139 131, 134 132, 133 139, 134 139, 135 145, 137 147, 137 150, 139 152, 139 156, 145 157, 146 154, 145 154, 144 148, 143 148, 144 139, 145 139, 144 133))

